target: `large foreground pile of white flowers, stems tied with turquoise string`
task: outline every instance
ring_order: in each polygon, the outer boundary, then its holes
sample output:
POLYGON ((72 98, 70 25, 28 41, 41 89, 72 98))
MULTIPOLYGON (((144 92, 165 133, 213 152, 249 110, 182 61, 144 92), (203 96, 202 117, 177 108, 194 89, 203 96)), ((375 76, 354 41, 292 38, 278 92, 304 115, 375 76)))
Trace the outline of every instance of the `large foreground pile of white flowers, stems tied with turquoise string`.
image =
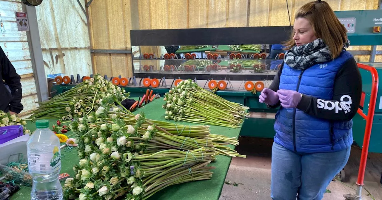
POLYGON ((65 181, 65 198, 144 200, 173 184, 210 179, 208 164, 219 154, 245 158, 228 146, 236 138, 210 134, 209 126, 149 120, 109 98, 70 124, 81 160, 65 181))

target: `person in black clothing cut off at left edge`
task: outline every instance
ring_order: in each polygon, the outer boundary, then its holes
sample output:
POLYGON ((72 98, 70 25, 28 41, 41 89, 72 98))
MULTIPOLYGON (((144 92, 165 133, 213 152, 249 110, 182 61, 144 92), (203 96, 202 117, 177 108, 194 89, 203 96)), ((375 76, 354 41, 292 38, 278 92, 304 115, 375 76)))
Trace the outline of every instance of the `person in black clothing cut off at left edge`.
POLYGON ((21 104, 21 78, 17 74, 15 67, 13 67, 1 46, 0 70, 0 110, 10 112, 11 115, 18 114, 24 109, 23 104, 21 104))

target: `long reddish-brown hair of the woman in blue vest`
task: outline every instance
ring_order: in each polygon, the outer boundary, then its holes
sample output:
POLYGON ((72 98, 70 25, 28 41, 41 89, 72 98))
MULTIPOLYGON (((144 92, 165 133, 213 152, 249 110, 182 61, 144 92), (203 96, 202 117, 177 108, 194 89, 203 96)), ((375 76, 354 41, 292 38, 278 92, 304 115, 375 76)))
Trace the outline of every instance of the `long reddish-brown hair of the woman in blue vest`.
MULTIPOLYGON (((326 2, 320 0, 309 2, 303 5, 296 13, 295 19, 305 18, 311 23, 314 34, 317 38, 324 40, 332 53, 332 59, 337 58, 342 49, 343 44, 347 42, 347 30, 338 20, 332 8, 326 2)), ((293 40, 294 30, 290 40, 286 41, 286 50, 290 50, 296 45, 293 40)))

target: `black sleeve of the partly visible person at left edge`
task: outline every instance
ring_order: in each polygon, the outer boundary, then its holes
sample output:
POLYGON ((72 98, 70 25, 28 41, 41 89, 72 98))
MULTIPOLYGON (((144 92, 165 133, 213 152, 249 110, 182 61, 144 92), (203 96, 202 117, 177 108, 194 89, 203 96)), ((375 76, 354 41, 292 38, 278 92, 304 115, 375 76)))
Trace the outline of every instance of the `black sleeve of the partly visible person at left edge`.
POLYGON ((17 74, 15 67, 9 61, 8 57, 4 53, 3 49, 0 47, 0 65, 2 66, 2 77, 5 83, 11 88, 12 100, 10 102, 9 110, 20 113, 24 109, 23 104, 21 104, 21 97, 23 96, 23 91, 21 90, 21 78, 17 74))

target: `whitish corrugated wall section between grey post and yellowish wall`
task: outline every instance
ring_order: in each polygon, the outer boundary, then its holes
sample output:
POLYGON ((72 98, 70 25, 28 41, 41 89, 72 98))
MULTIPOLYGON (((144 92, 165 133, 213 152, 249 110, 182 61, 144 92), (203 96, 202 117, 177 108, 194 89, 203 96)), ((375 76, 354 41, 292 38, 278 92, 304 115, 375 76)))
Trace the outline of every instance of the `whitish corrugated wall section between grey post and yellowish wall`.
POLYGON ((45 74, 92 74, 86 16, 77 1, 44 0, 36 14, 45 74))

